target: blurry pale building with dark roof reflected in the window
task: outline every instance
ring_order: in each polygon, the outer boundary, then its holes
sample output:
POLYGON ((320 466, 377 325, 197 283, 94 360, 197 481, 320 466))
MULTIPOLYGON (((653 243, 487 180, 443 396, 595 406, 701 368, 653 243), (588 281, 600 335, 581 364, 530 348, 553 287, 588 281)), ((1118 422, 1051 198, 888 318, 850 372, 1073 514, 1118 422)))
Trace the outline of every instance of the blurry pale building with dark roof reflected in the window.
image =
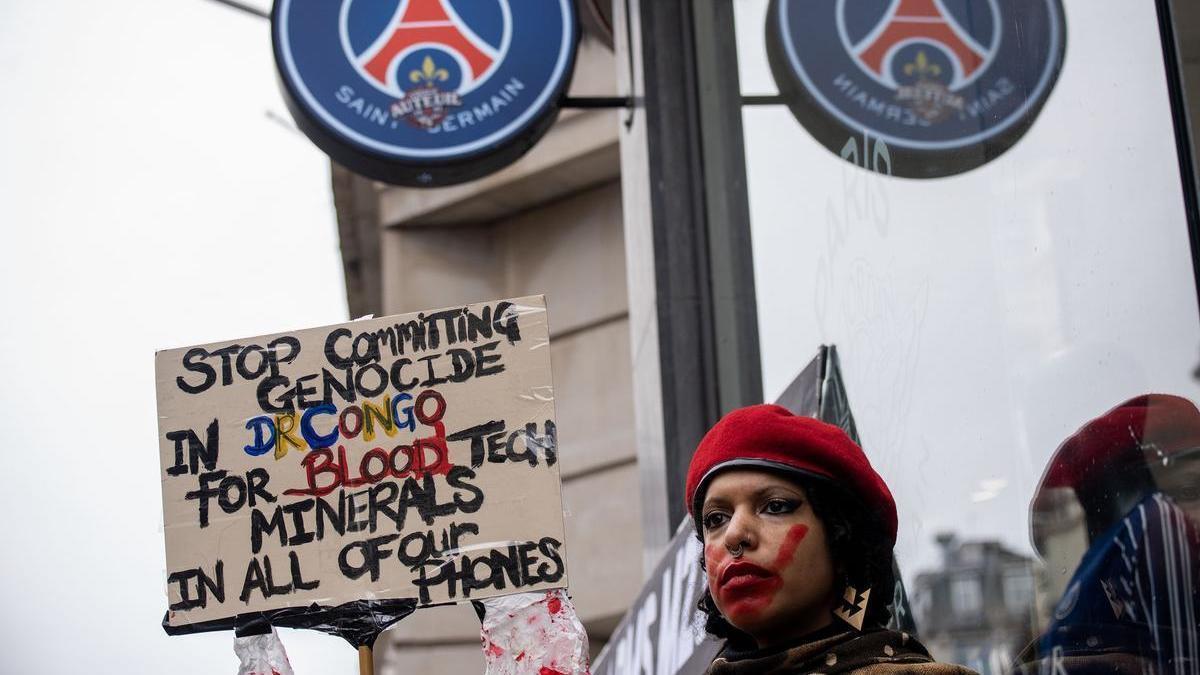
POLYGON ((1033 560, 994 540, 940 534, 937 544, 941 568, 918 574, 912 592, 922 641, 938 661, 1008 673, 1033 638, 1033 560))

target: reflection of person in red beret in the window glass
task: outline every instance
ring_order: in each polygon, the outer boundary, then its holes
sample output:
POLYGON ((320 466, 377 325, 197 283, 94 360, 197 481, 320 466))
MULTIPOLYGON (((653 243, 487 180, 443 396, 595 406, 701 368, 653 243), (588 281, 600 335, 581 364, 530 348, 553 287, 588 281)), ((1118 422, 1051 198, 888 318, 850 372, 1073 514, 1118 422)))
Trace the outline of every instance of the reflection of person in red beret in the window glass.
POLYGON ((1058 447, 1031 533, 1046 561, 1079 563, 1021 670, 1200 669, 1200 537, 1176 501, 1194 507, 1198 448, 1200 411, 1165 394, 1126 401, 1058 447))

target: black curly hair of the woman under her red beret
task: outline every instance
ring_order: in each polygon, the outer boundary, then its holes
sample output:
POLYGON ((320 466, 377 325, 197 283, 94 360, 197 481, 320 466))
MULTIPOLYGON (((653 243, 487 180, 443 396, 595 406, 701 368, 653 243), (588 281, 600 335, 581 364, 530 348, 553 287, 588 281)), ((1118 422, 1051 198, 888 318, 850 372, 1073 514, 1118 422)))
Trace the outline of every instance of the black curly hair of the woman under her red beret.
MULTIPOLYGON (((829 480, 797 472, 779 474, 804 490, 812 513, 824 525, 826 542, 833 558, 833 590, 836 597, 841 598, 847 586, 871 589, 863 628, 887 626, 892 617, 889 603, 895 577, 892 572, 892 543, 880 527, 880 519, 869 513, 853 495, 829 480)), ((703 543, 701 506, 697 503, 694 509, 694 524, 696 538, 703 543)), ((701 569, 704 568, 703 552, 700 566, 701 569)), ((734 649, 754 649, 755 643, 750 635, 738 631, 721 616, 707 585, 697 607, 704 614, 704 631, 709 634, 727 640, 734 649)))

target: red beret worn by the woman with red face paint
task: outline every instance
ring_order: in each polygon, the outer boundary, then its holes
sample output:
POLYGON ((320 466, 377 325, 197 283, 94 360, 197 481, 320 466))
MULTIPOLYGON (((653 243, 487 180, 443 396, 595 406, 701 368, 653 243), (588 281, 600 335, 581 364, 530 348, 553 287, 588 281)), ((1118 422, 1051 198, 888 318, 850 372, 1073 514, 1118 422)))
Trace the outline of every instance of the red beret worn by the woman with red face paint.
POLYGON ((688 513, 695 518, 713 477, 727 468, 758 467, 826 478, 851 492, 883 525, 895 544, 896 503, 880 474, 845 431, 775 405, 736 410, 696 448, 688 467, 688 513))

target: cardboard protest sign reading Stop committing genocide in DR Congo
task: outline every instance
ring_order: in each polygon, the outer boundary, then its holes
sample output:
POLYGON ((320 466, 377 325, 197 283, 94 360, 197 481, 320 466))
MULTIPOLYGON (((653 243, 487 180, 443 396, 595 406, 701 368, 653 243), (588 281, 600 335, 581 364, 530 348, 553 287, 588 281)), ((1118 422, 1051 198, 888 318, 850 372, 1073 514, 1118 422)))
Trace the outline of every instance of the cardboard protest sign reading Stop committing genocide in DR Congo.
POLYGON ((168 350, 155 372, 168 627, 566 586, 541 297, 168 350))

